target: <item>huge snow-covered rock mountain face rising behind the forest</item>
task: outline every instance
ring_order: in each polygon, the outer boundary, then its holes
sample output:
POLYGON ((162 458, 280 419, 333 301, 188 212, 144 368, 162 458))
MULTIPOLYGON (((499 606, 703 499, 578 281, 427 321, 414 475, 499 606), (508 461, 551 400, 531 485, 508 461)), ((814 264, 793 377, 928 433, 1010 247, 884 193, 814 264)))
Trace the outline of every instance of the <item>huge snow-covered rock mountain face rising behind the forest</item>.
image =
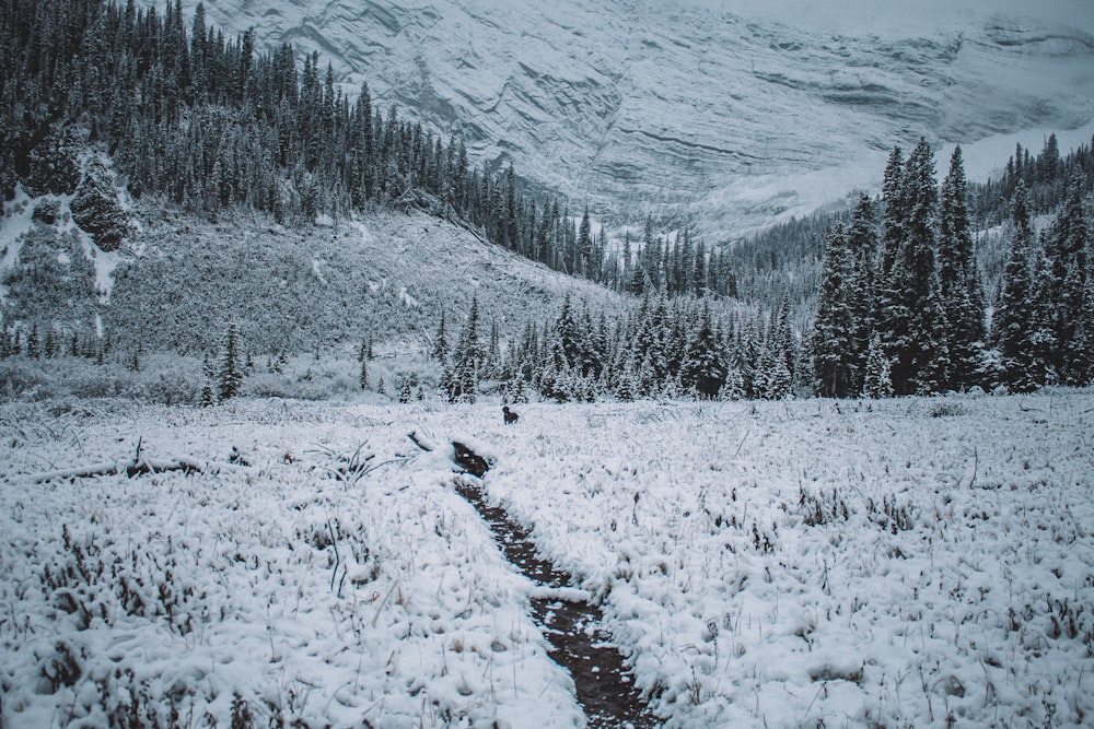
MULTIPOLYGON (((196 2, 184 3, 189 14, 196 2)), ((478 164, 606 222, 715 237, 880 181, 920 136, 970 144, 1094 119, 1094 5, 1059 0, 207 0, 257 46, 318 51, 462 138, 478 164)), ((1089 139, 1089 130, 1085 132, 1089 139)))

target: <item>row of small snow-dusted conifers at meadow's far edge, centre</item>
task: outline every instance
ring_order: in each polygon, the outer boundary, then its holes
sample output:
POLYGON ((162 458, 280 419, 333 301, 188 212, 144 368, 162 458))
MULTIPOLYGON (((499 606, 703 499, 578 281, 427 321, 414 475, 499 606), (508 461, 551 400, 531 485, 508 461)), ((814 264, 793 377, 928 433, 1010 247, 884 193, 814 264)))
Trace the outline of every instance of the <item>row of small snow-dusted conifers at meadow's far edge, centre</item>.
POLYGON ((509 345, 487 331, 473 301, 456 336, 442 316, 430 355, 450 400, 474 401, 492 381, 507 400, 529 392, 559 402, 604 398, 781 399, 801 372, 789 301, 773 313, 712 310, 709 298, 642 296, 626 310, 594 313, 567 296, 529 320, 509 345))

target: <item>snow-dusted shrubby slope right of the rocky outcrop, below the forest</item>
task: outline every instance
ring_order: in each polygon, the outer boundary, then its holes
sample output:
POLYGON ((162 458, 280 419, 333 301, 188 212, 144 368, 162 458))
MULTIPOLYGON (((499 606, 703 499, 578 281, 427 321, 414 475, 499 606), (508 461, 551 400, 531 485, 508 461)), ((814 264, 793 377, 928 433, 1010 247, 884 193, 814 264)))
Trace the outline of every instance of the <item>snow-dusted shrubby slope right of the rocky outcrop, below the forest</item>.
POLYGON ((150 343, 184 352, 187 337, 220 341, 233 317, 259 351, 348 352, 369 336, 424 343, 442 311, 455 337, 473 295, 482 336, 493 318, 503 333, 516 333, 528 317, 554 310, 565 292, 616 301, 423 213, 381 212, 318 228, 271 227, 249 215, 155 227, 136 242, 146 254, 119 270, 109 321, 120 331, 148 331, 141 318, 151 306, 183 340, 150 343), (178 271, 188 272, 185 285, 172 283, 178 271))

